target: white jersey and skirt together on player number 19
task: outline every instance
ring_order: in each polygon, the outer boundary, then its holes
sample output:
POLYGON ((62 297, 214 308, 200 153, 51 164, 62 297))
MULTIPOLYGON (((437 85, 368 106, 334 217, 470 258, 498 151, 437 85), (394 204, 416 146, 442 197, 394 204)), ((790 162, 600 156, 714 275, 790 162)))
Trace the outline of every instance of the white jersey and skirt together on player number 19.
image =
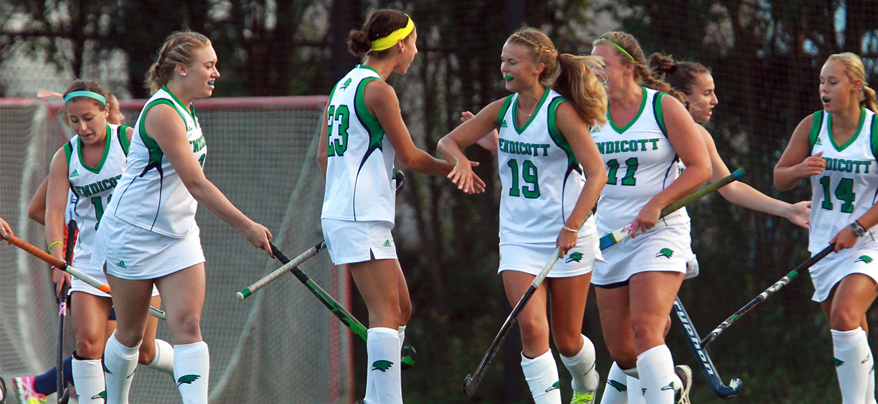
MULTIPOLYGON (((500 269, 536 275, 550 259, 558 233, 586 183, 570 143, 556 125, 558 105, 567 101, 546 89, 527 122, 519 125, 518 94, 506 98, 497 117, 500 184, 500 269)), ((579 229, 576 247, 549 277, 581 275, 600 259, 594 218, 579 229)))

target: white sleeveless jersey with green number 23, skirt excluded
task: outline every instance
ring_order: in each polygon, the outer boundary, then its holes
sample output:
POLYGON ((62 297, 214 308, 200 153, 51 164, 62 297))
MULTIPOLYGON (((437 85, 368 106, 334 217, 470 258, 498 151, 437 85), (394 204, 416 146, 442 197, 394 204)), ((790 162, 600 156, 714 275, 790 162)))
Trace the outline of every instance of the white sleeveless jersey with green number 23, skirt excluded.
POLYGON ((385 220, 395 216, 393 146, 366 109, 366 83, 378 71, 357 65, 335 84, 327 106, 327 183, 321 219, 385 220))

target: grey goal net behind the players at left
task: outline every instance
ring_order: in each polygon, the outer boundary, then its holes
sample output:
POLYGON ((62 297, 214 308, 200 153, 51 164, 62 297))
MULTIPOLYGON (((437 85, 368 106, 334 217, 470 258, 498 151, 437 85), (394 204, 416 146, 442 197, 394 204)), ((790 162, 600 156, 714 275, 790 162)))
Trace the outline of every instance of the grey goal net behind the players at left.
MULTIPOLYGON (((144 100, 122 102, 133 126, 144 100)), ((253 220, 270 228, 287 256, 320 242, 323 180, 313 156, 327 97, 213 98, 196 101, 210 154, 206 176, 253 220)), ((27 205, 54 151, 72 131, 61 102, 0 99, 0 217, 16 235, 45 244, 27 205)), ((234 292, 280 265, 204 208, 198 225, 207 258, 202 334, 211 348, 212 403, 341 403, 352 400, 351 334, 292 276, 245 301, 234 292)), ((301 266, 349 305, 346 272, 327 254, 301 266)), ((57 305, 47 264, 0 248, 0 375, 24 376, 54 365, 57 305)), ((67 327, 70 330, 71 327, 67 327)), ((169 340, 160 321, 158 337, 169 340)), ((65 354, 75 348, 72 333, 65 354)), ((140 368, 132 402, 179 403, 164 373, 140 368)))

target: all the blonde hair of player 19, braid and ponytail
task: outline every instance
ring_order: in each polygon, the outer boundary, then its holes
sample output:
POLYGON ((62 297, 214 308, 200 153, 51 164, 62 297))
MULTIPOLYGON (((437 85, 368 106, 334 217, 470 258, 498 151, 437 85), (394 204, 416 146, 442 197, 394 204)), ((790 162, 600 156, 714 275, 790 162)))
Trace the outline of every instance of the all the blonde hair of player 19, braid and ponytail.
POLYGON ((592 70, 594 65, 603 65, 600 58, 561 54, 549 37, 536 28, 522 27, 507 42, 529 47, 534 64, 544 66, 540 83, 576 105, 579 117, 588 126, 607 121, 607 94, 592 70))

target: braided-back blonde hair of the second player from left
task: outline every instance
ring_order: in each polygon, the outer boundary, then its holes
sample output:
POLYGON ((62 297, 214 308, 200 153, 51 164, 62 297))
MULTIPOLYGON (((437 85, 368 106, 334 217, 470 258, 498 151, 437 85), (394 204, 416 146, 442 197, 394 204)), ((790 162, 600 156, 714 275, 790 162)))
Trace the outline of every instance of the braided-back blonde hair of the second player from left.
POLYGON ((198 32, 178 31, 171 33, 162 45, 162 49, 159 50, 155 63, 147 72, 146 88, 151 93, 155 93, 164 87, 174 75, 176 65, 191 66, 192 62, 195 61, 192 51, 210 45, 211 40, 198 32))

